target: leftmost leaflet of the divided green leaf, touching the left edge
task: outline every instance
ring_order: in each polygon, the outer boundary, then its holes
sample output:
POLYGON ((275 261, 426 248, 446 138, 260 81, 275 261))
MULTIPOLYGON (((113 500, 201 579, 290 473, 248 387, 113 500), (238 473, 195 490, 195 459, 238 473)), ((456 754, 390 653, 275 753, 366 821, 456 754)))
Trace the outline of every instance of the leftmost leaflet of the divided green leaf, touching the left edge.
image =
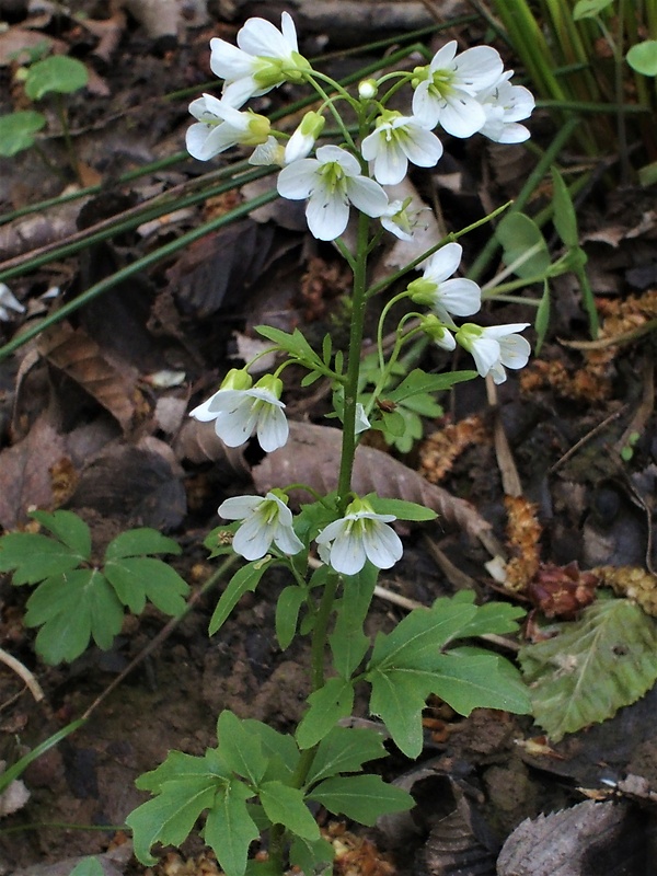
POLYGON ((12 584, 37 584, 74 569, 84 557, 66 544, 33 532, 9 532, 0 538, 0 572, 14 570, 12 584))

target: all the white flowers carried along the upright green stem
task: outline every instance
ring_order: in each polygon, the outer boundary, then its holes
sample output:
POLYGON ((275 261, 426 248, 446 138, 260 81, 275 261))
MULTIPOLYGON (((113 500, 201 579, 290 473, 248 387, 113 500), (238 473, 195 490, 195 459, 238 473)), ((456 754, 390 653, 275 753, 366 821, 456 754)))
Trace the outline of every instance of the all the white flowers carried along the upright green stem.
MULTIPOLYGON (((497 142, 522 142, 529 137, 520 124, 533 110, 527 89, 511 84, 512 71, 505 71, 499 54, 488 46, 458 53, 452 41, 440 48, 429 64, 412 71, 368 79, 357 96, 335 84, 333 96, 324 88, 326 77, 315 73, 299 54, 297 32, 287 12, 280 30, 264 19, 246 21, 237 46, 223 39, 210 41, 212 71, 223 79, 221 97, 204 94, 189 112, 195 117, 187 131, 187 149, 201 161, 235 146, 251 147, 250 162, 279 169, 277 189, 281 197, 306 201, 311 233, 333 241, 346 230, 351 208, 380 222, 402 240, 413 238, 417 211, 411 199, 391 199, 385 186, 402 182, 408 164, 433 168, 443 146, 437 129, 466 138, 474 134, 497 142), (379 97, 390 78, 396 83, 379 97), (285 82, 306 82, 322 102, 307 113, 288 136, 275 130, 269 120, 243 105, 285 82), (387 106, 388 97, 402 88, 411 90, 406 113, 387 106), (359 131, 353 136, 336 111, 346 101, 356 114, 359 131), (339 145, 318 146, 325 117, 332 113, 342 127, 339 145)), ((481 327, 454 316, 470 318, 481 308, 481 289, 470 279, 453 277, 462 247, 447 243, 423 265, 423 274, 408 284, 400 298, 427 309, 420 330, 443 349, 457 345, 474 359, 477 372, 496 383, 506 379, 507 368, 527 364, 530 348, 518 332, 527 324, 481 327)), ((247 370, 229 372, 219 390, 192 411, 196 419, 215 424, 217 435, 229 447, 239 447, 253 435, 263 450, 283 447, 289 434, 280 401, 283 383, 265 376, 255 384, 247 370)), ((357 405, 355 431, 370 427, 362 405, 357 405)), ((234 550, 255 561, 270 551, 295 555, 306 545, 293 529, 287 495, 272 491, 264 498, 239 496, 227 499, 219 514, 242 521, 233 539, 234 550)), ((320 557, 335 570, 351 575, 367 561, 389 568, 402 555, 402 544, 389 526, 393 515, 377 514, 365 499, 355 497, 343 516, 316 533, 320 557)))

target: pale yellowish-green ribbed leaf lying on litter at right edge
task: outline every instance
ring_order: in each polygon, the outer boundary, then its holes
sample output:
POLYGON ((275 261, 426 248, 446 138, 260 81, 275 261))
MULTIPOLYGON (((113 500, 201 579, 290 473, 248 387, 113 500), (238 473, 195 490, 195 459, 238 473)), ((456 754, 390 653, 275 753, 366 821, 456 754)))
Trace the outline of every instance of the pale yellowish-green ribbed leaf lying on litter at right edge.
POLYGON ((520 650, 533 715, 553 741, 612 717, 657 680, 657 621, 626 599, 600 599, 553 638, 520 650))

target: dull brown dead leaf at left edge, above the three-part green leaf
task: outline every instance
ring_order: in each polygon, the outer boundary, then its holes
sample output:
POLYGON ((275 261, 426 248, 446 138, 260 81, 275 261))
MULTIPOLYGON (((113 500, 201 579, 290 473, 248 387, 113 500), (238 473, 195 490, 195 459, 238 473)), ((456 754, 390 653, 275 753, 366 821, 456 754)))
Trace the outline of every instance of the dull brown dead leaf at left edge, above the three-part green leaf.
POLYGON ((65 440, 39 416, 28 434, 0 453, 0 525, 13 529, 33 507, 53 506, 50 469, 66 456, 65 440))

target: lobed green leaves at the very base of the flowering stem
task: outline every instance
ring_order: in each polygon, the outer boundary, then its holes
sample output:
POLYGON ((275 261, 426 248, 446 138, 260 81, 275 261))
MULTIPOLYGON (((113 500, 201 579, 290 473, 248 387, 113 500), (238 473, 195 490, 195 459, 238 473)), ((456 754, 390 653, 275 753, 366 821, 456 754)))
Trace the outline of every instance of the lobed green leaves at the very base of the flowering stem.
POLYGON ((406 792, 389 787, 378 776, 336 779, 385 753, 372 730, 333 727, 318 746, 303 787, 295 781, 300 752, 291 736, 222 712, 217 737, 218 748, 204 757, 171 751, 157 770, 137 780, 139 788, 155 795, 127 819, 141 863, 154 863, 150 850, 155 842, 180 844, 207 810, 204 837, 227 876, 245 873, 249 846, 261 829, 272 825, 287 829, 291 861, 312 872, 330 863, 333 851, 320 838, 307 799, 336 814, 362 814, 360 820, 368 825, 413 803, 406 792), (256 796, 260 806, 250 803, 256 796))

